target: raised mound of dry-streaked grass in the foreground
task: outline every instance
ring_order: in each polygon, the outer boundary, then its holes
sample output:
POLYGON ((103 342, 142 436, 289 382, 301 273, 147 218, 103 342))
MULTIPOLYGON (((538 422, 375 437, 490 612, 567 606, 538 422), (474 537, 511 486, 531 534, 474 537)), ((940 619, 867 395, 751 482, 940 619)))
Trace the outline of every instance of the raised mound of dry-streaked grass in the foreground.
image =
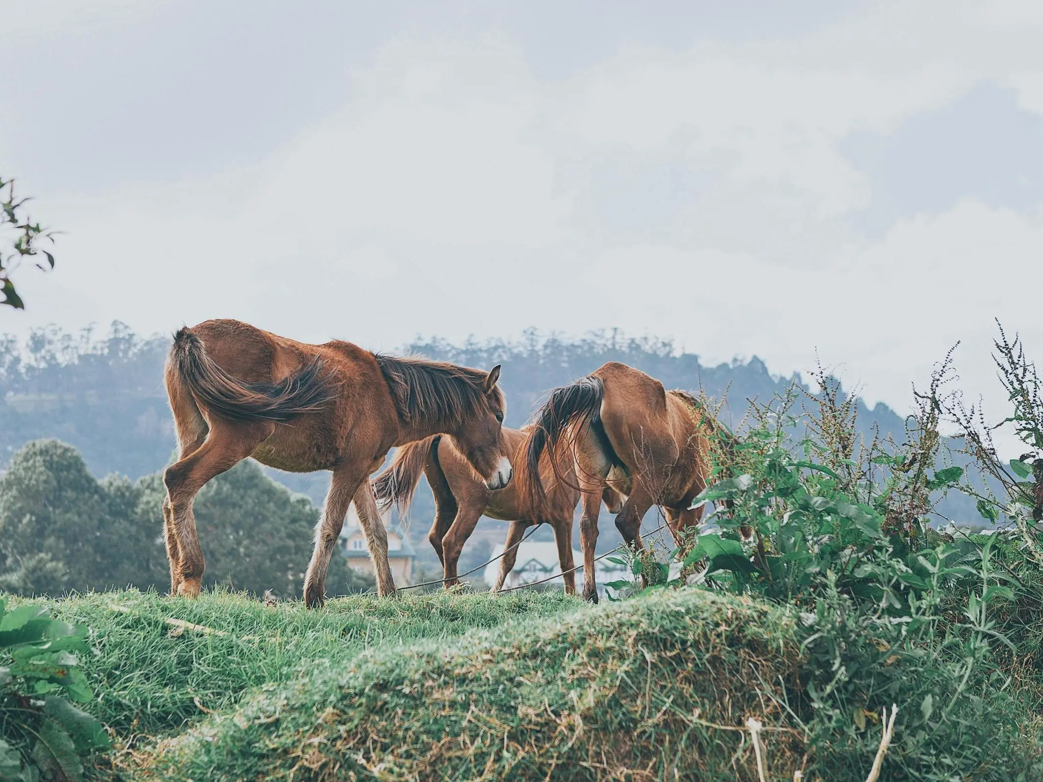
POLYGON ((765 740, 789 780, 805 750, 782 705, 799 661, 790 615, 683 590, 373 645, 119 764, 169 780, 756 779, 735 728, 757 715, 785 729, 765 740))

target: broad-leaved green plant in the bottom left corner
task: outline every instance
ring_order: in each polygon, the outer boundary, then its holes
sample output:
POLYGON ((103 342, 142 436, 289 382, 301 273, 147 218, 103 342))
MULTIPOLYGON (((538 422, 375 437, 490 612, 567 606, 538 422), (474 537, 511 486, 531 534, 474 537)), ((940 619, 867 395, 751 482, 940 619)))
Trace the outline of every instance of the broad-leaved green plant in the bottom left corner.
POLYGON ((76 657, 90 652, 87 632, 0 598, 0 781, 80 780, 84 758, 108 747, 101 723, 73 705, 93 698, 76 657))

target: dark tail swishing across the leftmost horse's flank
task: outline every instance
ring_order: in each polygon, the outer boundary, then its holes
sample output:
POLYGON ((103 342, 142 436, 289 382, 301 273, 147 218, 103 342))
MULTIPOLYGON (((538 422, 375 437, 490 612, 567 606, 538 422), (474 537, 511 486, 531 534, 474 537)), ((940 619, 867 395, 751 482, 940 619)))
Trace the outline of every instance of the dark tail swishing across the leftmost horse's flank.
POLYGON ((167 359, 168 382, 178 383, 203 410, 237 421, 287 421, 319 410, 335 396, 321 371, 316 357, 278 383, 238 381, 207 355, 191 328, 174 335, 167 359))

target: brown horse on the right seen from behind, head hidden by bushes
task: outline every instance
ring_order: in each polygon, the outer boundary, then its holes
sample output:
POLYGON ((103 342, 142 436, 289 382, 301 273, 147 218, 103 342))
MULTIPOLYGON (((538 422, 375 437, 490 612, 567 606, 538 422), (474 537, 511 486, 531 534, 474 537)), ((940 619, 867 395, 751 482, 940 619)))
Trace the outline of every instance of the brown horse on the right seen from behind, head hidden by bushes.
POLYGON ((534 420, 524 445, 525 460, 519 460, 524 478, 516 490, 535 504, 547 503, 539 479, 543 453, 556 454, 564 447, 575 453, 583 503, 580 540, 587 600, 598 602, 595 546, 605 486, 627 495, 615 526, 635 552, 644 547, 641 518, 653 505, 663 509, 678 544, 683 531, 699 523, 702 508, 688 506, 709 478, 709 436, 714 426, 692 394, 665 391, 645 372, 609 362, 555 389, 534 420))

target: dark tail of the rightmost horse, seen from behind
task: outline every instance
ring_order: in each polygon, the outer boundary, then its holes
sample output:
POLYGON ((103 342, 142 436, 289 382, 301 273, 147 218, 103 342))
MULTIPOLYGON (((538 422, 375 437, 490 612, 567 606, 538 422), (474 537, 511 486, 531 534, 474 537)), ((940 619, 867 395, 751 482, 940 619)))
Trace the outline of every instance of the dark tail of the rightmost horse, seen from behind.
MULTIPOLYGON (((540 458, 545 451, 549 461, 558 475, 558 459, 556 451, 564 433, 572 430, 578 433, 584 424, 598 429, 601 439, 601 402, 605 398, 605 384, 600 377, 587 375, 569 386, 556 388, 551 397, 533 417, 532 429, 523 444, 522 459, 522 490, 534 500, 536 506, 547 502, 543 482, 539 475, 540 458)), ((515 479, 518 480, 518 479, 515 479)))

